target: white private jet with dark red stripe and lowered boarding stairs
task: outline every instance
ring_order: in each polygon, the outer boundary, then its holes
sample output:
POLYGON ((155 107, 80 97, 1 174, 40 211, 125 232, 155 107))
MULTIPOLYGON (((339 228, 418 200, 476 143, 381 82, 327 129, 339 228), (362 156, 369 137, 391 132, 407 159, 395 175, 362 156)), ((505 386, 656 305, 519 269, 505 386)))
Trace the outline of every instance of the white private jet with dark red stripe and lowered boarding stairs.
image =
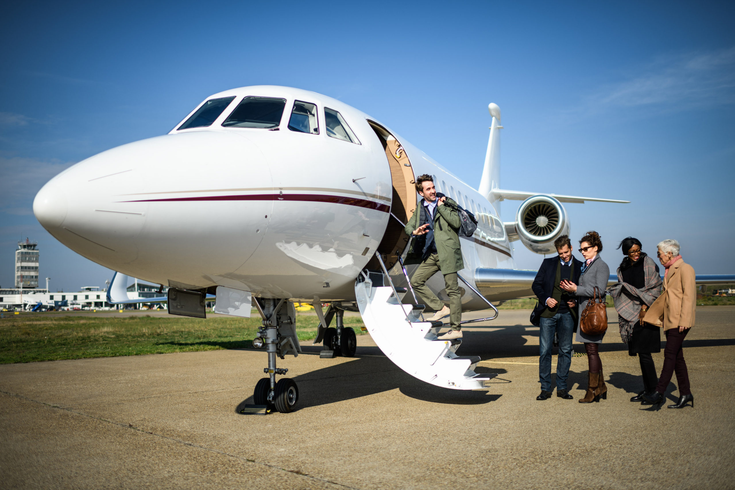
MULTIPOLYGON (((33 210, 68 248, 117 271, 110 303, 168 301, 171 314, 193 317, 206 317, 207 300, 216 299, 215 312, 240 317, 254 307, 262 327, 253 345, 268 353, 268 377, 245 413, 287 413, 298 404, 293 379, 276 381, 287 372, 277 358, 301 352, 295 302, 314 305, 323 357, 354 356, 356 334, 343 315, 359 311, 402 370, 436 386, 478 389, 493 375, 474 371, 479 357, 456 354, 461 339, 437 339, 445 324, 423 319, 409 281, 414 266, 404 265, 404 223, 419 202, 415 176, 433 176, 439 192, 478 220, 474 235, 462 237, 462 306, 493 314, 463 323, 497 317, 493 302, 533 295, 536 272, 516 268, 511 244, 554 253, 554 239, 570 229, 562 203, 628 202, 503 190, 501 110, 488 109, 478 189, 354 107, 260 85, 216 93, 168 134, 69 167, 43 186, 33 210), (523 201, 509 223, 499 213, 505 199, 523 201), (168 287, 167 295, 131 300, 128 276, 168 287)), ((428 284, 448 300, 440 274, 428 284)))

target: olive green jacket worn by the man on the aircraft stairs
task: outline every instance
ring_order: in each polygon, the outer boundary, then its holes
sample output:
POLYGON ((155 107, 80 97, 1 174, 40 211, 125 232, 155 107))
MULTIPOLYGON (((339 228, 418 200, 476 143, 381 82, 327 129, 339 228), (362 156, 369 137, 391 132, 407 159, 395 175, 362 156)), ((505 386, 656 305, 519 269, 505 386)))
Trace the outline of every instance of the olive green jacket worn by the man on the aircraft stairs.
MULTIPOLYGON (((419 227, 423 202, 424 200, 422 199, 418 203, 416 211, 409 222, 406 223, 405 231, 409 237, 419 227)), ((434 242, 437 244, 437 255, 439 255, 439 265, 442 268, 442 274, 456 273, 458 270, 465 268, 465 263, 462 262, 462 251, 459 248, 459 234, 457 234, 461 222, 457 212, 450 209, 447 203, 453 204, 454 206, 457 205, 451 198, 447 198, 442 206, 439 206, 437 203, 437 212, 434 215, 434 223, 431 225, 431 228, 434 229, 434 242)), ((427 217, 429 217, 428 213, 427 217)), ((426 237, 426 235, 421 236, 426 237)), ((406 264, 419 264, 421 262, 423 243, 424 240, 420 239, 420 237, 413 237, 411 248, 406 255, 406 264)))

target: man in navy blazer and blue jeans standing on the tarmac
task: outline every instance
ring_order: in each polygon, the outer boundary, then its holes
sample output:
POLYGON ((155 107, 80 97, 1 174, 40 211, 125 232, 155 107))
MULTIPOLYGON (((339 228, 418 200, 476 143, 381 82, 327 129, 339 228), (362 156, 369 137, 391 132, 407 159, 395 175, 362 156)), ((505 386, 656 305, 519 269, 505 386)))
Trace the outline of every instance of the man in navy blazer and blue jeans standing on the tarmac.
POLYGON ((582 262, 572 255, 572 242, 562 235, 553 242, 556 257, 544 259, 536 274, 534 290, 539 298, 541 318, 539 324, 539 383, 541 394, 537 400, 551 397, 551 347, 556 333, 559 339, 559 356, 556 361, 556 396, 564 400, 573 397, 567 391, 569 367, 572 364, 572 336, 577 323, 577 303, 573 296, 559 287, 564 279, 579 284, 582 262), (545 307, 544 307, 545 306, 545 307))

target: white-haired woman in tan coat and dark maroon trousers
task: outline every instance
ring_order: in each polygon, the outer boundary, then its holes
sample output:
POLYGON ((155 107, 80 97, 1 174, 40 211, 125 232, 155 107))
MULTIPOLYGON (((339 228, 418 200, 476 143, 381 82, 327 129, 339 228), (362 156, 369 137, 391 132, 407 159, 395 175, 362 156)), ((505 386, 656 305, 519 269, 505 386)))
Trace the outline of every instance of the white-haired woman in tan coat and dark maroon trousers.
POLYGON ((666 387, 676 372, 679 388, 678 403, 669 408, 684 408, 687 403, 694 407, 694 397, 689 389, 689 371, 686 370, 684 350, 681 345, 695 320, 697 291, 694 267, 686 264, 679 253, 679 242, 673 239, 659 243, 659 262, 666 268, 664 273, 664 292, 653 302, 643 321, 664 328, 666 348, 664 349, 664 368, 661 370, 656 391, 645 393, 643 399, 654 405, 663 403, 666 387))

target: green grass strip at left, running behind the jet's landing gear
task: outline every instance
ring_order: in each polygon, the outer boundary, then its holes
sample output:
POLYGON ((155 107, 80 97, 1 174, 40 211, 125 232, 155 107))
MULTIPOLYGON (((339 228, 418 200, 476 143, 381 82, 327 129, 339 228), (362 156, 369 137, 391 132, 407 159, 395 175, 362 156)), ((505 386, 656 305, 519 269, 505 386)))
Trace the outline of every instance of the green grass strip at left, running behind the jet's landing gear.
MULTIPOLYGON (((259 317, 4 316, 0 364, 251 348, 261 324, 259 317)), ((296 318, 298 339, 313 339, 318 317, 297 314, 296 318)), ((362 334, 359 317, 345 316, 344 323, 362 334)))

